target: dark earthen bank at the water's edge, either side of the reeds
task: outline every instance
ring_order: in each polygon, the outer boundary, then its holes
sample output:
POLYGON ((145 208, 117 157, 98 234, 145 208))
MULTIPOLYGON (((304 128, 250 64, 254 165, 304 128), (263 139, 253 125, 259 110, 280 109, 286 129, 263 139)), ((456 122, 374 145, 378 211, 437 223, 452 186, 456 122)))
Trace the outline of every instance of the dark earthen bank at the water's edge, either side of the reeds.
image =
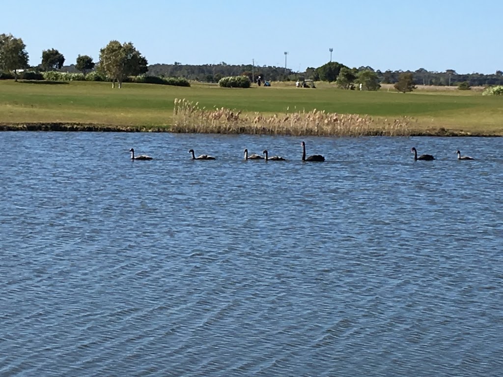
MULTIPOLYGON (((172 132, 170 127, 144 127, 144 126, 114 126, 101 124, 86 124, 86 123, 0 123, 0 131, 59 131, 59 132, 172 132)), ((388 136, 385 131, 373 131, 368 135, 363 136, 388 136)), ((397 136, 443 136, 443 137, 501 137, 497 134, 470 133, 466 131, 446 130, 443 127, 423 130, 411 131, 407 135, 397 136)))

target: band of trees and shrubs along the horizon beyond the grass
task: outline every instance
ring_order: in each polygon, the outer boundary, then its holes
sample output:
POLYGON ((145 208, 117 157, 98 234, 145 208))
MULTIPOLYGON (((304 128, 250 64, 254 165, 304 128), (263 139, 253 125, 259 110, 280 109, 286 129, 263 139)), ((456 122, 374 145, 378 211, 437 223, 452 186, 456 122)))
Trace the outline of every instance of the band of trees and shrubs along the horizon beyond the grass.
POLYGON ((374 70, 370 66, 350 68, 339 62, 328 62, 320 67, 308 67, 303 72, 295 72, 285 67, 256 66, 254 64, 232 65, 220 62, 218 64, 191 65, 175 62, 174 64, 151 64, 133 46, 131 42, 120 43, 111 41, 100 50, 98 62, 88 55, 79 55, 75 64, 64 66, 65 58, 57 49, 42 51, 42 61, 34 67, 28 66, 28 53, 21 38, 11 34, 0 34, 0 78, 18 78, 20 71, 29 69, 34 72, 64 71, 81 72, 86 75, 96 71, 106 75, 108 79, 121 84, 128 76, 148 75, 152 77, 181 77, 187 80, 203 82, 219 82, 222 77, 247 76, 251 82, 258 77, 268 81, 288 81, 312 79, 315 81, 336 82, 345 89, 356 86, 366 90, 376 90, 381 83, 395 84, 403 74, 407 80, 418 85, 470 86, 503 85, 503 72, 497 70, 494 74, 467 73, 459 74, 453 69, 444 72, 428 71, 424 68, 415 71, 374 70))

